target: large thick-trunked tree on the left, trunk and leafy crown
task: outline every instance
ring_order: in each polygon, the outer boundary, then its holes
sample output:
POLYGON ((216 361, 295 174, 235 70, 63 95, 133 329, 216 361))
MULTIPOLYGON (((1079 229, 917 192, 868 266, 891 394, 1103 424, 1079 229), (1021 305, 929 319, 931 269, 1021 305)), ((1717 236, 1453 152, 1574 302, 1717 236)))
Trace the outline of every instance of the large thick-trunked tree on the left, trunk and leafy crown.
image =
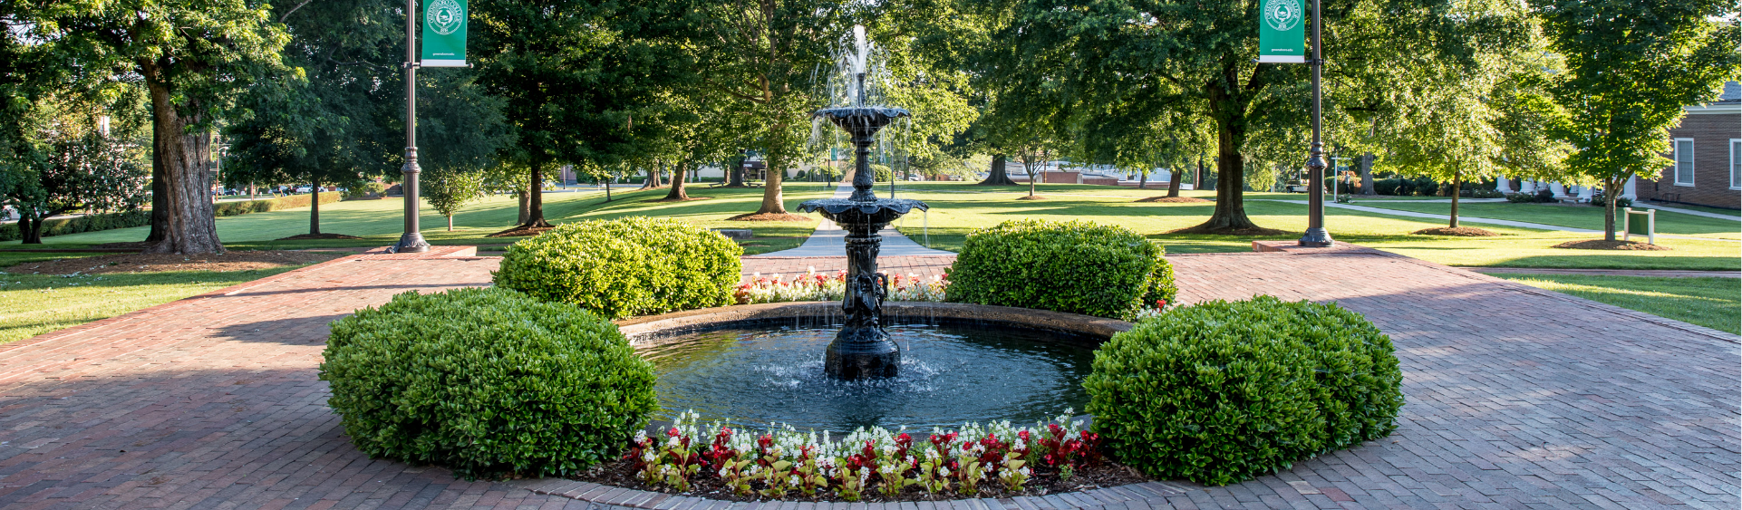
POLYGON ((146 252, 223 252, 211 205, 211 127, 256 77, 280 70, 289 40, 265 3, 70 0, 21 14, 44 59, 143 78, 152 103, 152 237, 146 252))

